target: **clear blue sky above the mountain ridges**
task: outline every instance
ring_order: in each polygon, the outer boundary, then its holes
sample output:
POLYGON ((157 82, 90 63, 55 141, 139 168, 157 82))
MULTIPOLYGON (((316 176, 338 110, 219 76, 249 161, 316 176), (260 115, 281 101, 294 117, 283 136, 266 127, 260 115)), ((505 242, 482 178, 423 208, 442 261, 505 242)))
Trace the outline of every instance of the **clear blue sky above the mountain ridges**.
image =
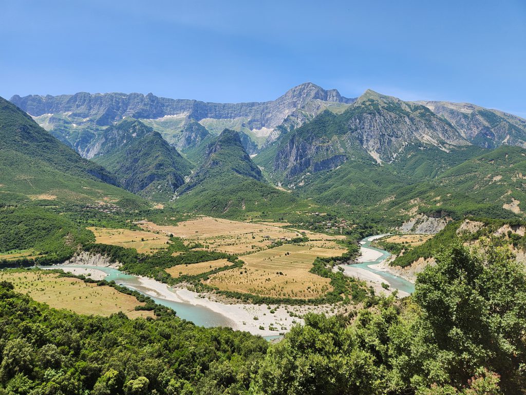
POLYGON ((466 101, 526 117, 526 0, 0 0, 0 95, 466 101))

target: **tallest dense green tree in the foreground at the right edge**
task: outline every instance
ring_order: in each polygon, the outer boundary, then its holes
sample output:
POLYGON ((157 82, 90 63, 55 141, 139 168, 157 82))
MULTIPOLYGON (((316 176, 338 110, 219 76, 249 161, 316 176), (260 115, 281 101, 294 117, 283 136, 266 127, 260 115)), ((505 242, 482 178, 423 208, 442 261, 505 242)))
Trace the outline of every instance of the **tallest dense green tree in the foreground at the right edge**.
POLYGON ((417 381, 460 387, 488 369, 505 393, 523 393, 526 274, 508 249, 452 245, 418 275, 413 298, 421 308, 413 357, 430 361, 417 381))

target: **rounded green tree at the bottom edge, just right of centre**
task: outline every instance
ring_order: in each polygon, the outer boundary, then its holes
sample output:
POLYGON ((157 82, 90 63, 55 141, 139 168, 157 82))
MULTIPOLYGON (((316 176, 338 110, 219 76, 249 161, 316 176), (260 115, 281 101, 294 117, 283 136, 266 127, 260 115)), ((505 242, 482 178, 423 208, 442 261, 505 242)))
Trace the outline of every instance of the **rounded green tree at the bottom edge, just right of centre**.
POLYGON ((351 328, 336 317, 307 314, 272 347, 259 367, 252 393, 381 393, 375 358, 356 347, 351 328))

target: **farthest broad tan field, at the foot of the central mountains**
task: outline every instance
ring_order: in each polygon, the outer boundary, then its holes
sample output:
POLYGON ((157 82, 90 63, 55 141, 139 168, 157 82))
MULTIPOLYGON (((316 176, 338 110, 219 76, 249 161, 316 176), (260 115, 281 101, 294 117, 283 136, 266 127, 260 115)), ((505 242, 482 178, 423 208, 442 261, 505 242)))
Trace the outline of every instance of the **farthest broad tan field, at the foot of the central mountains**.
MULTIPOLYGON (((180 222, 175 226, 160 226, 153 222, 138 225, 148 231, 173 234, 188 242, 199 242, 210 250, 230 254, 245 254, 264 250, 278 240, 290 240, 303 236, 298 230, 283 229, 286 223, 250 223, 228 221, 208 216, 180 222)), ((304 232, 311 240, 345 239, 344 236, 329 236, 304 232)))

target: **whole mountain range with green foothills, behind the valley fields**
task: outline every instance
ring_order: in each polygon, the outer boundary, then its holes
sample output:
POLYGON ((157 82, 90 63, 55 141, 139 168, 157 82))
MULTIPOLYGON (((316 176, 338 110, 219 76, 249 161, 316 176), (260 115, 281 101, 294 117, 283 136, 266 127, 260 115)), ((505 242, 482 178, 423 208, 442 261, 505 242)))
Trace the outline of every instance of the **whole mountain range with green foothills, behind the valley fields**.
POLYGON ((522 215, 526 200, 526 120, 468 103, 371 90, 346 98, 311 83, 262 103, 136 93, 11 101, 108 181, 184 210, 245 217, 315 204, 402 221, 522 215))

